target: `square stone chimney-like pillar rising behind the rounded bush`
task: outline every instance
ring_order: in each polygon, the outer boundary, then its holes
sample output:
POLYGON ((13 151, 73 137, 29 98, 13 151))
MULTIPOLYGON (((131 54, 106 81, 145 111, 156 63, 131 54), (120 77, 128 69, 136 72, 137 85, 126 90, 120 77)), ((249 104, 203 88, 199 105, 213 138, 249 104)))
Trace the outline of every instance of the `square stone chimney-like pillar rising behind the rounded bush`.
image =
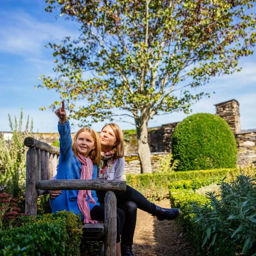
POLYGON ((216 106, 216 115, 228 123, 234 134, 241 130, 239 102, 237 100, 228 100, 214 106, 216 106))

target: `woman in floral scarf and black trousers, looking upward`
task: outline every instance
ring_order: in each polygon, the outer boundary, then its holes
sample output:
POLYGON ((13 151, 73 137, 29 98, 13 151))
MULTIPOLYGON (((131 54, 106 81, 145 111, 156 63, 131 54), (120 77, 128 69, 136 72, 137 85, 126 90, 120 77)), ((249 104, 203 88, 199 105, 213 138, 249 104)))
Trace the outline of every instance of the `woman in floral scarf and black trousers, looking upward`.
MULTIPOLYGON (((124 172, 124 140, 122 130, 116 124, 107 124, 100 132, 101 167, 98 179, 121 180, 124 172)), ((58 196, 61 191, 51 191, 51 197, 58 196)), ((104 202, 105 191, 96 191, 99 202, 104 202)), ((179 209, 160 208, 149 202, 140 192, 126 186, 126 192, 115 192, 117 206, 125 213, 122 230, 122 256, 132 256, 132 243, 136 226, 137 207, 158 220, 173 220, 180 212, 179 209)))

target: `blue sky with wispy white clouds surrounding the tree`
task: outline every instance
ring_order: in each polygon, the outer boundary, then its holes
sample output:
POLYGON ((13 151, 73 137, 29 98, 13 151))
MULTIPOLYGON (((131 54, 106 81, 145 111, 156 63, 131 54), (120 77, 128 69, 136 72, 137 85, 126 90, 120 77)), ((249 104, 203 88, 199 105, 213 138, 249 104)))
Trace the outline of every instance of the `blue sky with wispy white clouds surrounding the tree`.
MULTIPOLYGON (((0 6, 0 131, 9 131, 8 113, 13 118, 20 115, 33 118, 34 131, 57 132, 57 117, 50 110, 40 111, 59 100, 58 93, 34 86, 42 74, 54 76, 52 52, 44 47, 48 42, 58 42, 65 36, 78 36, 78 25, 64 18, 56 20, 55 14, 45 12, 44 0, 5 0, 0 6)), ((254 48, 254 51, 256 49, 254 48)), ((193 114, 215 114, 214 104, 236 99, 240 102, 242 129, 256 128, 256 53, 240 59, 242 72, 213 78, 197 91, 210 92, 192 107, 193 114), (212 92, 215 92, 213 94, 212 92)), ((156 116, 149 127, 178 122, 186 117, 182 112, 156 116)), ((24 118, 24 122, 25 122, 24 118)), ((131 120, 132 121, 132 120, 131 120)), ((118 123, 122 129, 133 129, 132 124, 118 123)), ((94 124, 97 131, 102 123, 94 124)), ((75 131, 77 127, 73 128, 75 131)))

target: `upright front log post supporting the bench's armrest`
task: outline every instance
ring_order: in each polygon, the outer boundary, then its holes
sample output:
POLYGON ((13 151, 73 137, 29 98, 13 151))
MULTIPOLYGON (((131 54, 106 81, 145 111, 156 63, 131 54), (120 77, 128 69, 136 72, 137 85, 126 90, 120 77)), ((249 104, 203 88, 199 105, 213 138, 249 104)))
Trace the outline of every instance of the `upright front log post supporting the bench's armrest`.
POLYGON ((107 191, 105 195, 105 237, 104 256, 116 255, 116 196, 114 192, 107 191))

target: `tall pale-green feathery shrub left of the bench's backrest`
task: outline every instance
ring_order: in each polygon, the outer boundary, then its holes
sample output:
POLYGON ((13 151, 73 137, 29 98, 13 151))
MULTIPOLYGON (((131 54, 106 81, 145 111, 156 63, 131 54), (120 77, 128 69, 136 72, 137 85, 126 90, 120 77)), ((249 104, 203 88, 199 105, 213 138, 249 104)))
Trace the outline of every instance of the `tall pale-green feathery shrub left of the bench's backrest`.
POLYGON ((19 206, 24 208, 22 205, 24 203, 27 148, 23 142, 26 137, 32 134, 33 120, 29 129, 28 117, 25 130, 22 132, 22 110, 19 121, 14 116, 13 122, 9 114, 8 118, 12 138, 8 142, 4 141, 4 138, 0 138, 0 191, 17 198, 20 203, 19 206))

